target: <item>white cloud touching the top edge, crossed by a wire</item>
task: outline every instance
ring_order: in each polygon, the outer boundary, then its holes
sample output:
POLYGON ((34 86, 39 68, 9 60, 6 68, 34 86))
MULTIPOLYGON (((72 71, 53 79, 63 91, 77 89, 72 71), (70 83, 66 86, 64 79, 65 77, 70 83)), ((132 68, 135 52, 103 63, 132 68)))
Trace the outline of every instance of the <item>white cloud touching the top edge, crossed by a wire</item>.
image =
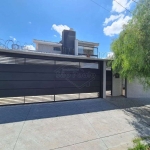
POLYGON ((130 9, 130 5, 133 2, 132 0, 113 0, 113 6, 112 6, 112 11, 113 12, 118 12, 118 13, 122 13, 124 12, 126 9, 130 9), (117 2, 120 4, 118 4, 117 2), (122 6, 123 7, 122 7, 122 6), (126 8, 126 9, 125 9, 126 8))

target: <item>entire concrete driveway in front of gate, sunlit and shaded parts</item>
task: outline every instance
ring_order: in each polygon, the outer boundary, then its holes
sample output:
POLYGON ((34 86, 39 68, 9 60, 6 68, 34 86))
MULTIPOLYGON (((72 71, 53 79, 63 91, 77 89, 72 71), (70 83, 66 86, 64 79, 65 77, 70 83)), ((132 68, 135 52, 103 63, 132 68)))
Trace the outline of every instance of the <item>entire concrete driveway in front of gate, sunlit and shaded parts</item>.
POLYGON ((1 150, 126 150, 150 136, 150 100, 90 99, 0 107, 1 150))

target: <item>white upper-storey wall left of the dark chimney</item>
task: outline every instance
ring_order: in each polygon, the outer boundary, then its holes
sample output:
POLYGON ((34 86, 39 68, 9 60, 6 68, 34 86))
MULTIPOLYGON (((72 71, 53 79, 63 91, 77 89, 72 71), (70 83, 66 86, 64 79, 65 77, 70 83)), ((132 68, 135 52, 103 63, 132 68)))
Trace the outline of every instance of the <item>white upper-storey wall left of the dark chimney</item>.
POLYGON ((61 54, 61 51, 54 51, 53 48, 54 46, 51 46, 51 45, 38 44, 36 51, 61 54))

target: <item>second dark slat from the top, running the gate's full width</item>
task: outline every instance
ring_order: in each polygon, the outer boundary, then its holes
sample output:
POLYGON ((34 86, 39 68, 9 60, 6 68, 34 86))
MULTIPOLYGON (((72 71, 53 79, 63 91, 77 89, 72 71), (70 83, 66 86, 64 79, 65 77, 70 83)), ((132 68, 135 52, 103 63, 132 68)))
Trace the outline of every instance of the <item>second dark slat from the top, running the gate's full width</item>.
POLYGON ((0 72, 0 81, 9 80, 78 80, 78 81, 87 81, 87 80, 100 80, 99 75, 90 76, 90 74, 86 76, 80 76, 79 74, 72 75, 72 74, 54 74, 54 73, 22 73, 22 72, 0 72))

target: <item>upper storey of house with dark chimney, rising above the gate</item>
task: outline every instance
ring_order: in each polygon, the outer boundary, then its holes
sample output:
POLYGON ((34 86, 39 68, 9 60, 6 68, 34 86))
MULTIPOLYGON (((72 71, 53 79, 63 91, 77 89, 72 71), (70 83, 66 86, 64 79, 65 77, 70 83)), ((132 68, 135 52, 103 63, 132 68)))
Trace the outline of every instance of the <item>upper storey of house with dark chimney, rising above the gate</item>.
POLYGON ((62 40, 59 43, 43 40, 33 40, 33 42, 36 44, 36 51, 38 52, 98 58, 99 43, 76 39, 76 32, 72 29, 62 32, 62 40))

